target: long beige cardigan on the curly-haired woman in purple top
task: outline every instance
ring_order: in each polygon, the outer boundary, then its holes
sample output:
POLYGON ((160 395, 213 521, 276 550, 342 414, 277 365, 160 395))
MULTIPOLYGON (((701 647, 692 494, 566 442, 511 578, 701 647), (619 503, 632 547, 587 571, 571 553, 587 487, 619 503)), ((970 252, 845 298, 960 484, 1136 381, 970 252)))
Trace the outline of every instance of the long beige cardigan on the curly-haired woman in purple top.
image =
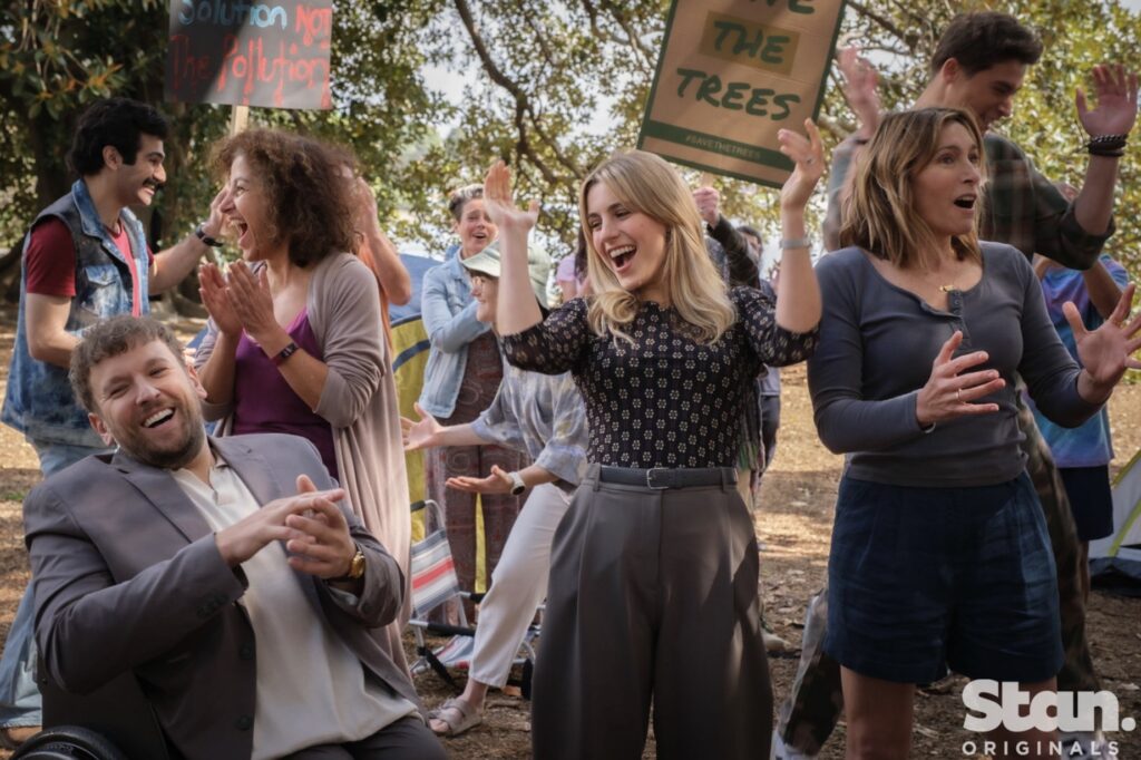
MULTIPOLYGON (((407 670, 400 632, 411 612, 408 551, 412 522, 391 356, 380 314, 377 277, 351 253, 333 253, 313 272, 306 298, 309 325, 329 366, 313 410, 333 429, 340 483, 365 527, 404 573, 404 607, 389 625, 389 655, 407 670)), ((211 320, 194 357, 201 367, 217 340, 211 320)), ((228 435, 232 405, 203 403, 208 420, 228 435)))

